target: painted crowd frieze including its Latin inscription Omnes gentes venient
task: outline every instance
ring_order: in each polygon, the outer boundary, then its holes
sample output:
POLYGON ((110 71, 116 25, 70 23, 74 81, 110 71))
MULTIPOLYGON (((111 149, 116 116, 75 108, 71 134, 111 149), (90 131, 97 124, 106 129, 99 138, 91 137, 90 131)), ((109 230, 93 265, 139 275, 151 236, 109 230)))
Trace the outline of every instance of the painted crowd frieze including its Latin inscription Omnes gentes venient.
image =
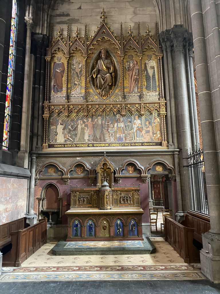
POLYGON ((143 116, 127 111, 114 114, 51 113, 49 118, 49 148, 160 146, 160 114, 146 111, 143 116))

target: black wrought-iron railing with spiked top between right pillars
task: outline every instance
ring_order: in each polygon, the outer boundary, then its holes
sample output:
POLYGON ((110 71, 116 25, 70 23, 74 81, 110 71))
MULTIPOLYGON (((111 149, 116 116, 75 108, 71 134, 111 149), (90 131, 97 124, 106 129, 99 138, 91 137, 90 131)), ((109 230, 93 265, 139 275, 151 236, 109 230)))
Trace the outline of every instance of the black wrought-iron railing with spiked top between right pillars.
POLYGON ((188 153, 189 186, 193 211, 209 214, 203 150, 195 149, 188 153))

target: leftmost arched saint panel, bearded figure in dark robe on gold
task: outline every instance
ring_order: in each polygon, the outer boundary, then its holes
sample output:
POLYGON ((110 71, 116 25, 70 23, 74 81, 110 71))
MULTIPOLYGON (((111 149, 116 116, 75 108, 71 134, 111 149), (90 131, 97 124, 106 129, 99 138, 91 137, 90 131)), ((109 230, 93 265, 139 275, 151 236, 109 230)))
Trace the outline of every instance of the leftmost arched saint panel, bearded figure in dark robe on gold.
POLYGON ((51 57, 50 66, 50 102, 65 102, 66 98, 66 59, 61 50, 51 57))

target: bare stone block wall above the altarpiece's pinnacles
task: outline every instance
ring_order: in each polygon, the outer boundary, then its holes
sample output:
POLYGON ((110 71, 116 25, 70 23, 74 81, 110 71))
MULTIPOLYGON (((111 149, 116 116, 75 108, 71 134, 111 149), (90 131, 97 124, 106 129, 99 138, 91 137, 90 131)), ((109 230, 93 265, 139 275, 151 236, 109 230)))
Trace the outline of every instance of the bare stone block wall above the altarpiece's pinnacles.
MULTIPOLYGON (((155 33, 155 21, 158 15, 153 0, 58 0, 51 6, 52 34, 59 29, 64 30, 65 24, 70 24, 70 35, 74 36, 78 26, 79 35, 84 36, 84 24, 87 23, 88 36, 94 35, 99 26, 100 15, 104 7, 108 16, 108 26, 114 30, 114 34, 120 34, 120 23, 123 23, 123 33, 127 35, 129 25, 133 34, 137 34, 138 21, 141 25, 141 34, 145 34, 147 24, 151 34, 155 33)), ((67 26, 66 26, 67 27, 67 26)), ((64 35, 66 31, 62 32, 64 35)), ((55 34, 54 34, 55 35, 55 34)))

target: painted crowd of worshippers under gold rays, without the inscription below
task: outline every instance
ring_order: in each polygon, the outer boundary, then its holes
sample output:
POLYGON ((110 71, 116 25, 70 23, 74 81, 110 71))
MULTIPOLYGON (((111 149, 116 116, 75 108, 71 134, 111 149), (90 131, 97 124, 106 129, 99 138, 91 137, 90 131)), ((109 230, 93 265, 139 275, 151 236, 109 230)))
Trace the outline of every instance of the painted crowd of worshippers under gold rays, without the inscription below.
POLYGON ((68 123, 55 116, 49 122, 49 143, 73 142, 154 142, 161 141, 160 119, 152 117, 152 122, 135 115, 123 118, 80 118, 68 123))

